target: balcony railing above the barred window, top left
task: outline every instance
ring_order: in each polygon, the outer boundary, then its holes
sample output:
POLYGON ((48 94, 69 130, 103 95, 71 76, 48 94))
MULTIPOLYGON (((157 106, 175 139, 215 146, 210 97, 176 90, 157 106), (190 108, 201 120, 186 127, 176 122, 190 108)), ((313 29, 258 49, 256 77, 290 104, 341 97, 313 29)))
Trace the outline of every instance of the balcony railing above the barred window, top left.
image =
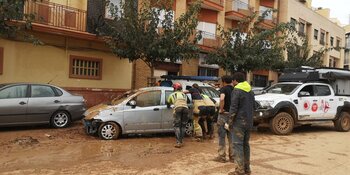
POLYGON ((34 14, 34 23, 86 31, 86 11, 48 1, 26 0, 24 13, 34 14))

